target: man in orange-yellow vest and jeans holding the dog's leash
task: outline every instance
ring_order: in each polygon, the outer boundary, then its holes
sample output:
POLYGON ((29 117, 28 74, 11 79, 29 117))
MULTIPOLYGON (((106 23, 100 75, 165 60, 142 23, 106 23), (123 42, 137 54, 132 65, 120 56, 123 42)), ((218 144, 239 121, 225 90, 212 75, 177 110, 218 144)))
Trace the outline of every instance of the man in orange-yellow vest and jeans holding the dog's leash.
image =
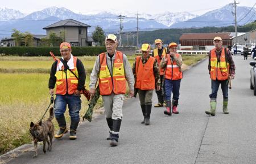
POLYGON ((68 42, 60 44, 61 58, 52 64, 49 78, 49 94, 54 94, 53 88, 56 84, 54 113, 60 127, 59 132, 54 136, 56 139, 61 138, 68 131, 64 116, 67 105, 71 116, 70 140, 76 139, 76 129, 80 120, 80 92, 84 88, 86 76, 84 65, 71 52, 71 45, 68 42))

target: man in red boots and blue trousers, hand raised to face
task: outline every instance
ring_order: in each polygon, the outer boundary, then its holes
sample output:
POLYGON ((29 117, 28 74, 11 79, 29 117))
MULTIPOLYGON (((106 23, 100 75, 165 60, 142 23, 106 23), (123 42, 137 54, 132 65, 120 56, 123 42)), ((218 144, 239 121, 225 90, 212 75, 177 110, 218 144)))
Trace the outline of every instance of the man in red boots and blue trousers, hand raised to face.
POLYGON ((164 110, 164 114, 172 115, 172 113, 179 114, 177 105, 180 96, 180 81, 182 79, 182 58, 180 54, 177 54, 177 44, 175 42, 171 42, 168 48, 170 53, 163 57, 160 67, 164 69, 165 79, 166 110, 164 110), (174 94, 174 96, 172 96, 172 102, 171 93, 174 94))

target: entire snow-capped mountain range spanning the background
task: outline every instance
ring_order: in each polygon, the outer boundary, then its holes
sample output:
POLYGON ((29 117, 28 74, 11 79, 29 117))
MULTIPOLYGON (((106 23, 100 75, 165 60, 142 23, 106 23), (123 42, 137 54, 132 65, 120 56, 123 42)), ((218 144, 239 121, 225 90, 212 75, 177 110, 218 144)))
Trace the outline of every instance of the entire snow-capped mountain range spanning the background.
MULTIPOLYGON (((246 17, 251 7, 237 6, 237 22, 238 25, 250 23, 256 19, 256 8, 254 8, 246 17)), ((232 5, 226 5, 217 10, 209 11, 204 15, 197 16, 189 12, 163 12, 156 15, 139 13, 139 30, 152 31, 160 28, 189 28, 189 27, 205 27, 205 26, 228 26, 233 25, 234 11, 232 5)), ((100 12, 75 13, 67 8, 49 7, 41 11, 32 12, 31 14, 23 14, 20 11, 0 8, 0 38, 10 37, 11 30, 16 28, 21 32, 31 32, 35 34, 45 34, 43 29, 47 25, 63 19, 75 19, 82 23, 88 24, 89 34, 94 31, 98 25, 104 29, 106 33, 119 33, 120 19, 119 15, 123 15, 122 31, 137 31, 137 13, 106 10, 100 12), (5 31, 5 32, 4 32, 5 31)))

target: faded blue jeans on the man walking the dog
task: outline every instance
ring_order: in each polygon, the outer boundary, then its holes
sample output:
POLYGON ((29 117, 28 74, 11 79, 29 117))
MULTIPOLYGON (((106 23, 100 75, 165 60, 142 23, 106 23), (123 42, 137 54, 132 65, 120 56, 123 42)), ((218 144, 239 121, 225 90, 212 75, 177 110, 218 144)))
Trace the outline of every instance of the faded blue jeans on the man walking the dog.
POLYGON ((64 113, 69 109, 69 115, 71 116, 72 122, 79 122, 79 111, 81 109, 81 100, 80 96, 72 95, 61 95, 56 94, 54 101, 54 114, 56 118, 61 118, 64 116, 64 113))

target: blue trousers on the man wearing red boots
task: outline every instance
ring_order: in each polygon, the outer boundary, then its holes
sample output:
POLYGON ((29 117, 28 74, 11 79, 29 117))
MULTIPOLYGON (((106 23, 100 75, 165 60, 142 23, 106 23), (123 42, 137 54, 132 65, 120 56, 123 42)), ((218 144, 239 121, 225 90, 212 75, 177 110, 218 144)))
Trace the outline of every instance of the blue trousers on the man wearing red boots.
POLYGON ((180 96, 180 80, 169 80, 166 79, 164 81, 164 89, 166 93, 166 101, 171 101, 172 93, 174 96, 172 96, 173 100, 178 101, 180 96))

